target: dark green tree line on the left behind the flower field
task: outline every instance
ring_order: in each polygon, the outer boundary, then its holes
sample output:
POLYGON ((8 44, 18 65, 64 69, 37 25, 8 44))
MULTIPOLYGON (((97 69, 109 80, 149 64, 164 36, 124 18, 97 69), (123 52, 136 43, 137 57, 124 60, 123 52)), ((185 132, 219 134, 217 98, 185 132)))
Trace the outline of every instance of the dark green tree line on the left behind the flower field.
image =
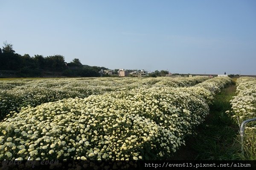
POLYGON ((67 77, 98 77, 101 69, 107 68, 82 65, 78 58, 66 63, 62 55, 20 55, 15 53, 13 45, 9 43, 4 43, 0 48, 0 70, 15 71, 17 76, 38 77, 58 72, 67 77))

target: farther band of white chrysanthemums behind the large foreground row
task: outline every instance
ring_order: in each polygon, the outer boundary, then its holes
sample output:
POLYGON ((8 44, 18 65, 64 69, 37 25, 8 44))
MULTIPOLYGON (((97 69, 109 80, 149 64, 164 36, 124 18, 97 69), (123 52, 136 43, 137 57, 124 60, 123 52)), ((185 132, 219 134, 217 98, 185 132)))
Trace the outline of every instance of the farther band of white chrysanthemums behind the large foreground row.
POLYGON ((58 101, 64 98, 86 98, 105 92, 133 89, 139 86, 194 86, 207 77, 192 78, 61 78, 0 81, 0 120, 13 110, 27 105, 58 101))

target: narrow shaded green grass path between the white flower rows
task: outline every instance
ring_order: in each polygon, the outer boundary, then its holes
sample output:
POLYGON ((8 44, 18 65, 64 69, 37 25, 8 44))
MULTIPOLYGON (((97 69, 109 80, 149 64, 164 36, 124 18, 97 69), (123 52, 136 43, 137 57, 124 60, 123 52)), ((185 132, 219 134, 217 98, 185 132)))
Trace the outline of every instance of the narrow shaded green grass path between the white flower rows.
POLYGON ((198 127, 197 134, 186 138, 186 146, 180 148, 173 160, 236 160, 239 159, 239 142, 236 141, 239 126, 231 121, 226 110, 236 85, 230 85, 215 96, 206 121, 198 127))

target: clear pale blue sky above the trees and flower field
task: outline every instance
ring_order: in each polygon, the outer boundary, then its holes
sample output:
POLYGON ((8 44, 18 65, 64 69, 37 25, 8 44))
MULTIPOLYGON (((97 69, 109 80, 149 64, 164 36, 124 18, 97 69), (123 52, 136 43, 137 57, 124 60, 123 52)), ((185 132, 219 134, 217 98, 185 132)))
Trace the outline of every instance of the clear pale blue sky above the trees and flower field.
POLYGON ((256 75, 256 0, 0 0, 0 46, 109 69, 256 75))

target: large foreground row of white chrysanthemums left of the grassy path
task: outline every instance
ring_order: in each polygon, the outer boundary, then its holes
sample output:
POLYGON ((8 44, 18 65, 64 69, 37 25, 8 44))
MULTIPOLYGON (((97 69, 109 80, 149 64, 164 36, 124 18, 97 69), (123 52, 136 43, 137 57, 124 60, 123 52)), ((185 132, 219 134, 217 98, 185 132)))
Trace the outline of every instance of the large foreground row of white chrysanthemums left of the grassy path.
POLYGON ((0 158, 168 158, 204 121, 215 89, 230 83, 213 78, 194 87, 139 86, 23 107, 0 124, 0 158))

